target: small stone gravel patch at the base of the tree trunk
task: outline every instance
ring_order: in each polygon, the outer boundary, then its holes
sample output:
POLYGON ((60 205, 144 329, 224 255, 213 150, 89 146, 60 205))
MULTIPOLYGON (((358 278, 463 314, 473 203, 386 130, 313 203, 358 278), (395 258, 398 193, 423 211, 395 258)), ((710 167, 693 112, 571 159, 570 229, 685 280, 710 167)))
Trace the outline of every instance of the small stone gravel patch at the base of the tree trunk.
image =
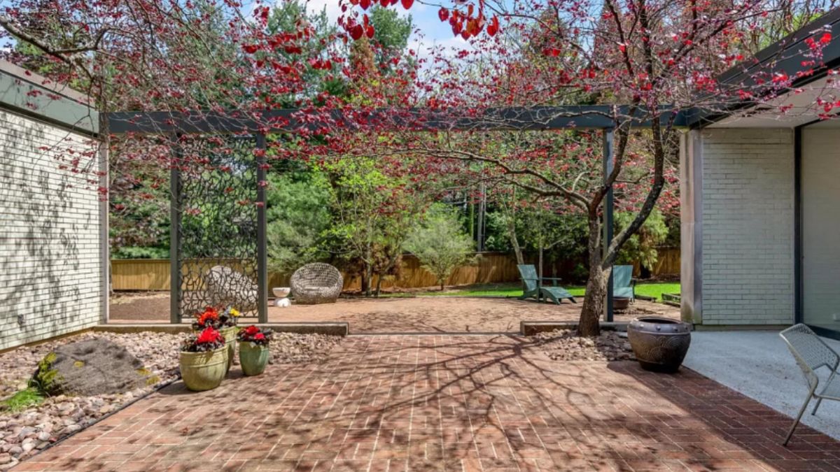
POLYGON ((631 360, 633 350, 627 338, 616 331, 601 331, 596 338, 584 338, 574 329, 555 329, 532 337, 552 360, 631 360))

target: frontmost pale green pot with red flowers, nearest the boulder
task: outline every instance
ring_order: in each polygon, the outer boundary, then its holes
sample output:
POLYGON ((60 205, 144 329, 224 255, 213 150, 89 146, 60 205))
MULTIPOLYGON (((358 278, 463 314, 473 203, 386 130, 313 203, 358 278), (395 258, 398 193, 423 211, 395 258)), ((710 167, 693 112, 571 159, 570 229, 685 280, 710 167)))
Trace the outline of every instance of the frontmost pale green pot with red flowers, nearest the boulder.
POLYGON ((227 373, 228 349, 216 328, 207 327, 181 345, 181 379, 192 391, 218 387, 227 373))

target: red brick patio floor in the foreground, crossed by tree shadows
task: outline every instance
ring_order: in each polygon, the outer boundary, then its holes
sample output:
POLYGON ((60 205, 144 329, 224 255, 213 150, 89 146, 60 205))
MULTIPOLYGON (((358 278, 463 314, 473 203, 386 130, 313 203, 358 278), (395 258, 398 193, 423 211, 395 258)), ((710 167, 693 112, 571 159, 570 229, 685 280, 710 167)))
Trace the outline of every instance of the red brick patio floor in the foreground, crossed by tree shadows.
POLYGON ((808 427, 781 447, 789 424, 690 370, 360 336, 323 364, 171 385, 15 470, 840 470, 840 443, 808 427))

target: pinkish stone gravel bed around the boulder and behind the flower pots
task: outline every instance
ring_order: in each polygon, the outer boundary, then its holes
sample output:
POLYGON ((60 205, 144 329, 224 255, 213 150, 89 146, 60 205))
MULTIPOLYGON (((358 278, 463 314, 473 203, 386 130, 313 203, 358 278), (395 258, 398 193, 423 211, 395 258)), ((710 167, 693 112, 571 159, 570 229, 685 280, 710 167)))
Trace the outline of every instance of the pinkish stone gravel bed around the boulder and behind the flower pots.
MULTIPOLYGON (((36 364, 56 347, 95 337, 123 345, 158 376, 158 383, 117 395, 48 397, 39 406, 21 412, 0 410, 0 470, 11 469, 51 443, 87 427, 129 401, 148 395, 156 386, 179 375, 178 349, 186 338, 184 333, 82 333, 0 354, 0 398, 26 388, 36 364)), ((323 334, 276 333, 270 344, 270 362, 320 362, 340 341, 338 336, 323 334)), ((235 364, 239 364, 238 360, 235 364)))

